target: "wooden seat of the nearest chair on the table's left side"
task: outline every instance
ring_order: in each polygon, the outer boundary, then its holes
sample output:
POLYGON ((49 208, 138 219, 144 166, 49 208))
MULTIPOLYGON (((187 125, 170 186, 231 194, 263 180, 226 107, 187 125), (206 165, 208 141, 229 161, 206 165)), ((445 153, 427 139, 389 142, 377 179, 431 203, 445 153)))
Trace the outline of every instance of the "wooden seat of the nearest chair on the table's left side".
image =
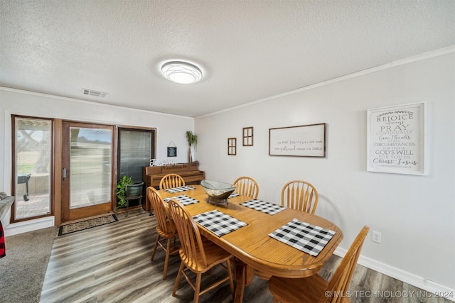
POLYGON ((185 263, 185 265, 190 268, 193 272, 206 272, 210 268, 213 268, 213 265, 223 263, 225 260, 232 257, 230 253, 228 253, 220 246, 216 245, 212 241, 208 240, 207 238, 201 237, 203 242, 203 247, 205 250, 205 258, 207 260, 207 267, 201 266, 203 264, 202 259, 200 258, 199 250, 198 252, 198 260, 195 262, 188 260, 183 249, 180 250, 180 258, 185 263))

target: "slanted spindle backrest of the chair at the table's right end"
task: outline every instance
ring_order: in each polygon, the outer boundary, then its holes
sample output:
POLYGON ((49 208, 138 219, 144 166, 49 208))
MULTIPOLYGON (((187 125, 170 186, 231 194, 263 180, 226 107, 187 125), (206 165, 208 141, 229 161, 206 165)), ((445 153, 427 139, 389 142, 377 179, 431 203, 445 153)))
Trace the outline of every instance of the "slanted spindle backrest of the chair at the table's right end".
POLYGON ((360 233, 358 233, 357 237, 355 237, 348 252, 333 273, 331 280, 328 281, 326 290, 323 292, 319 302, 341 302, 343 294, 346 294, 348 291, 350 279, 353 277, 355 265, 357 265, 360 250, 362 250, 363 241, 369 230, 370 227, 365 225, 360 233), (335 295, 328 297, 327 294, 335 295))

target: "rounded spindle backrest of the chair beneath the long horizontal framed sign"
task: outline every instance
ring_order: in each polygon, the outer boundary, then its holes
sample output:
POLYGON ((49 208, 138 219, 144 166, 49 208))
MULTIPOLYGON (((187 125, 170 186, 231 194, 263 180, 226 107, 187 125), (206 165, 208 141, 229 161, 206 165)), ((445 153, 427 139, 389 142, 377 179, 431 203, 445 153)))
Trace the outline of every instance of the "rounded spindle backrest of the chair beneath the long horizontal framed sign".
POLYGON ((314 214, 318 206, 318 191, 309 182, 294 180, 284 184, 282 206, 314 214))

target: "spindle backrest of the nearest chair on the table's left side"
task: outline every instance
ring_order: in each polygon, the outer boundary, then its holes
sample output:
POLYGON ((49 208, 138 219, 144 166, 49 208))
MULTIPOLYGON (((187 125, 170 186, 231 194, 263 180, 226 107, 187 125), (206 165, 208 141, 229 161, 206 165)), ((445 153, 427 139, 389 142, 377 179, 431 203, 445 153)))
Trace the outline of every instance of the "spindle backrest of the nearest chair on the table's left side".
POLYGON ((185 206, 176 200, 169 201, 171 216, 176 224, 178 238, 180 238, 182 259, 189 268, 206 268, 207 259, 205 250, 200 238, 200 233, 193 217, 185 209, 185 206))

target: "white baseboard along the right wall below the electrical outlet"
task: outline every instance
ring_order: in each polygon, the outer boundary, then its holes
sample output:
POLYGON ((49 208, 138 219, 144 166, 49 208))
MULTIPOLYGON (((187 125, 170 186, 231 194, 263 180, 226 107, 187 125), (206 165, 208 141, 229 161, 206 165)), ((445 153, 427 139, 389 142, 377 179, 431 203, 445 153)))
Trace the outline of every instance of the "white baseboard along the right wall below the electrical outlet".
MULTIPOLYGON (((338 247, 336 248, 334 254, 343 258, 344 255, 346 255, 346 252, 346 249, 338 247)), ((389 277, 393 277, 397 280, 413 285, 421 290, 432 292, 432 294, 451 294, 452 297, 445 298, 455 302, 455 289, 448 286, 441 285, 437 282, 425 279, 424 277, 420 277, 418 275, 414 275, 411 272, 400 270, 399 268, 394 268, 393 266, 387 265, 385 263, 380 263, 377 260, 364 257, 363 255, 360 255, 358 258, 358 264, 363 265, 366 268, 370 268, 371 270, 380 272, 383 275, 388 275, 389 277)))

